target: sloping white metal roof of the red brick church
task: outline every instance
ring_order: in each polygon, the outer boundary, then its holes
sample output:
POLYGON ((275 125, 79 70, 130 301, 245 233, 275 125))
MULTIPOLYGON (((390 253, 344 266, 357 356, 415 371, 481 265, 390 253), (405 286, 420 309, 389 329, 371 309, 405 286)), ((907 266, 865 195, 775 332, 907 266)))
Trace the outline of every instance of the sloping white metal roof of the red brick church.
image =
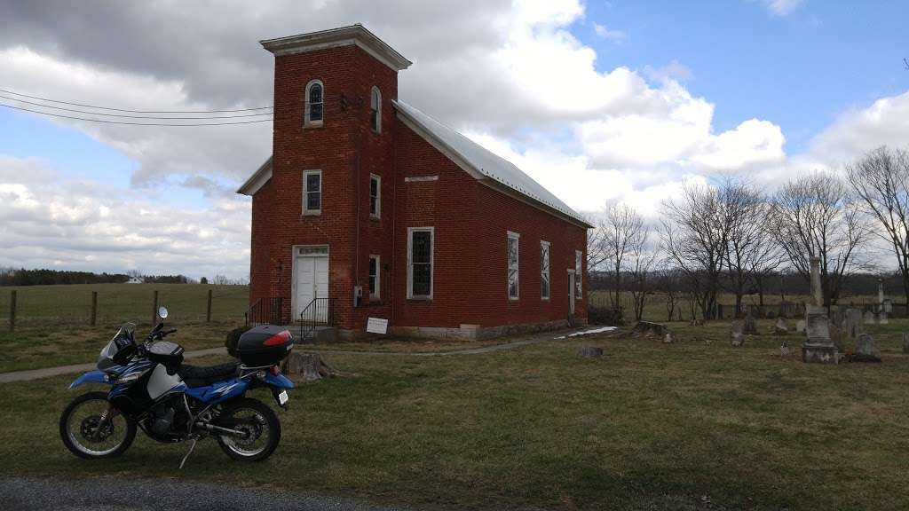
MULTIPOLYGON (((397 100, 393 102, 399 114, 404 115, 405 121, 409 120, 418 128, 422 128, 425 133, 419 135, 429 135, 435 139, 435 142, 442 145, 443 149, 454 153, 454 156, 463 160, 463 163, 473 169, 477 178, 488 177, 494 181, 511 188, 515 192, 524 195, 535 202, 562 213, 563 215, 574 218, 578 222, 589 226, 584 217, 578 215, 572 208, 559 200, 552 192, 545 189, 534 179, 524 174, 524 172, 504 159, 502 156, 495 155, 492 151, 486 149, 483 145, 475 143, 473 140, 461 135, 453 128, 440 123, 430 115, 426 115, 419 109, 407 105, 405 102, 397 100)), ((418 130, 420 131, 420 130, 418 130)), ((432 141, 431 141, 432 142, 432 141)), ((445 153, 445 151, 443 151, 445 153)), ((467 169, 468 171, 470 169, 467 169)))

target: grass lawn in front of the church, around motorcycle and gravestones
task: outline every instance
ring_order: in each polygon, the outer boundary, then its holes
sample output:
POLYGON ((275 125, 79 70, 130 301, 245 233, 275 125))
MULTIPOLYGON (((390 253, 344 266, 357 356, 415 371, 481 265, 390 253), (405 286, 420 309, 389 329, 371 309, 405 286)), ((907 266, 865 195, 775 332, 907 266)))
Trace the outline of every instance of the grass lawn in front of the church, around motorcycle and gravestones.
POLYGON ((906 509, 909 324, 869 329, 883 364, 804 365, 766 334, 734 348, 722 323, 676 324, 674 345, 618 335, 482 356, 325 352, 344 374, 295 389, 275 456, 237 465, 207 440, 182 472, 185 446, 145 437, 115 461, 75 458, 56 432, 81 392, 65 390, 72 378, 7 384, 0 473, 180 477, 438 509, 906 509), (605 356, 577 356, 587 345, 605 356))

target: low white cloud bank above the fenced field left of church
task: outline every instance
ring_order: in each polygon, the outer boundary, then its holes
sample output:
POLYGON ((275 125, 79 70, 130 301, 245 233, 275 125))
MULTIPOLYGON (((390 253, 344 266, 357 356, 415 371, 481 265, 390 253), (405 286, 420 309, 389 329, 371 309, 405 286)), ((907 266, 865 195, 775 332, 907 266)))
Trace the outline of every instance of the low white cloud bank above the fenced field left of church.
POLYGON ((0 155, 0 266, 244 277, 249 202, 176 209, 0 155), (216 254, 217 256, 213 256, 216 254))

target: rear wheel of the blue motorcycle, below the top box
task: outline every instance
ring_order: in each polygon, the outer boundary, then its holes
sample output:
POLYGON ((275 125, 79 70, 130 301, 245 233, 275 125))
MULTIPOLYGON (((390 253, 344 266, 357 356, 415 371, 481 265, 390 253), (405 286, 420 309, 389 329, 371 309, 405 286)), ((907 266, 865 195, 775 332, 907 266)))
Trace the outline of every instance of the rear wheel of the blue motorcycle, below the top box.
POLYGON ((221 450, 237 461, 262 461, 272 456, 281 441, 278 416, 258 399, 245 397, 226 405, 217 422, 246 432, 246 436, 217 436, 221 450))

